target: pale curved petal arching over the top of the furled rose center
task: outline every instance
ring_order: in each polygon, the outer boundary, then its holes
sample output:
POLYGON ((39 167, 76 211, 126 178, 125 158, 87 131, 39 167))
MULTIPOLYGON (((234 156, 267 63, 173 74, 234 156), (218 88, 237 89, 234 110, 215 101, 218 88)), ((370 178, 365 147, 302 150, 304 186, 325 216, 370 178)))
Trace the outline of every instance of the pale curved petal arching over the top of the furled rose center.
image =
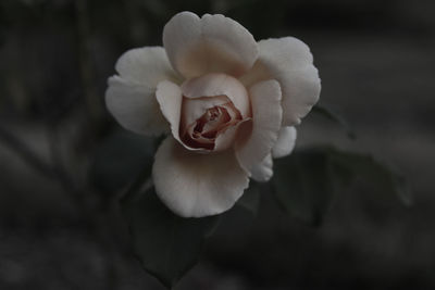
POLYGON ((250 115, 248 92, 238 79, 225 74, 208 74, 186 80, 183 96, 189 99, 226 96, 245 118, 250 115))

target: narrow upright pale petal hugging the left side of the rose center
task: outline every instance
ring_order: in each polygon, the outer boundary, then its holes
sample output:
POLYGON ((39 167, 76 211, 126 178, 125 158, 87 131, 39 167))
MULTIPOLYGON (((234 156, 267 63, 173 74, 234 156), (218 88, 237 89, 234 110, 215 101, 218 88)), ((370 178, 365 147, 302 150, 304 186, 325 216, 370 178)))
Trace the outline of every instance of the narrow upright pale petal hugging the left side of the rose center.
POLYGON ((182 90, 177 85, 169 80, 160 81, 156 91, 157 100, 163 116, 171 124, 172 135, 179 140, 179 121, 182 116, 182 90))

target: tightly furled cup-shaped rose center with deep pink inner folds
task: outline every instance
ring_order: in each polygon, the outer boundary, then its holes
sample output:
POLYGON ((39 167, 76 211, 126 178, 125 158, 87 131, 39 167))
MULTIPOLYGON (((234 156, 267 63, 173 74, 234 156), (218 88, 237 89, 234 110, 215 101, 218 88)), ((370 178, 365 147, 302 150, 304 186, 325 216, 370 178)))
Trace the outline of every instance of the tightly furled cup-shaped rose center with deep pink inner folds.
POLYGON ((245 87, 233 77, 210 74, 188 80, 182 88, 181 141, 199 152, 232 147, 238 125, 250 117, 245 87), (221 86, 216 87, 216 84, 221 86))

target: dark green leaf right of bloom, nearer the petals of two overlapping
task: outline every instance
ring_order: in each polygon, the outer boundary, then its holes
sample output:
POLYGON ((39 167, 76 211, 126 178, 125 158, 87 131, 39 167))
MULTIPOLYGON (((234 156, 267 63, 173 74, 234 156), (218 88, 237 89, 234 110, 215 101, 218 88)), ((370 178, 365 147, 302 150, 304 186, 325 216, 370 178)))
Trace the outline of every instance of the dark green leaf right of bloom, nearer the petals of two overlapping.
POLYGON ((306 150, 278 159, 274 192, 283 209, 311 225, 319 225, 334 193, 328 157, 322 150, 306 150))

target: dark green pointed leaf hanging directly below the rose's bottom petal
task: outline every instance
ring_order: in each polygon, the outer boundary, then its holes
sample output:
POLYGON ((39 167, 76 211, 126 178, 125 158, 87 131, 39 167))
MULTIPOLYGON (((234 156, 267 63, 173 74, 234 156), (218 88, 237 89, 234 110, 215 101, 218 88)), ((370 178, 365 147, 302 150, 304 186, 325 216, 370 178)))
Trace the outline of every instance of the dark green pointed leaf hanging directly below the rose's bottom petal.
POLYGON ((144 268, 167 288, 197 263, 204 239, 219 216, 183 218, 173 214, 153 188, 122 202, 133 248, 144 268))

